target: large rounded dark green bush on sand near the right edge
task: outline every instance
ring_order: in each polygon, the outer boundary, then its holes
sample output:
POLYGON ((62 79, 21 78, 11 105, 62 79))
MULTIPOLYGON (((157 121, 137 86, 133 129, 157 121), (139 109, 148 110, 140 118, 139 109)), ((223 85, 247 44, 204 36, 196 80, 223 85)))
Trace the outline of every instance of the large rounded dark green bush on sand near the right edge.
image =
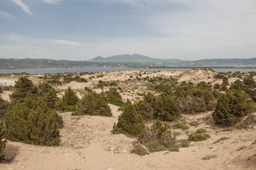
POLYGON ((218 100, 212 117, 216 123, 234 124, 240 118, 253 113, 255 103, 249 100, 249 95, 241 90, 228 91, 218 100))

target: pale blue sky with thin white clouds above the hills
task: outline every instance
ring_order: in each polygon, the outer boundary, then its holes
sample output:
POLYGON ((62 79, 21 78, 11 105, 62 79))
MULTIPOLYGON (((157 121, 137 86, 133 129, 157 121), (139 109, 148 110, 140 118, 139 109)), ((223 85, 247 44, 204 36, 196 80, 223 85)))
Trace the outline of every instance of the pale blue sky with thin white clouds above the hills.
POLYGON ((1 0, 0 58, 256 57, 255 0, 1 0))

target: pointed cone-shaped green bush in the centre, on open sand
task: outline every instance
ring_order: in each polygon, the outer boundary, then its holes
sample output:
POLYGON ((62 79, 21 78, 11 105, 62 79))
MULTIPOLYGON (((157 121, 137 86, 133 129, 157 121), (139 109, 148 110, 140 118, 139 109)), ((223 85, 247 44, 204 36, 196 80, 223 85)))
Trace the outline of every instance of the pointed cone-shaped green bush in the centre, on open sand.
POLYGON ((137 114, 132 103, 127 101, 123 112, 118 116, 118 123, 114 123, 111 132, 130 134, 137 137, 145 127, 141 115, 137 114))

